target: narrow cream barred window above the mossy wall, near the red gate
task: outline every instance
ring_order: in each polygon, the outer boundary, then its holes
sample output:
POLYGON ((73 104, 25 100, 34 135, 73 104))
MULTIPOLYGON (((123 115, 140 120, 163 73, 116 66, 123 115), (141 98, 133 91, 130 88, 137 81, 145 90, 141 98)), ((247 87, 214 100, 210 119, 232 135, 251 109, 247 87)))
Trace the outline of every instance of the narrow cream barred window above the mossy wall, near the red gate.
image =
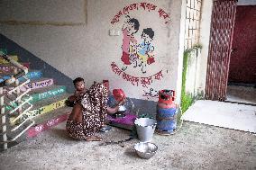
POLYGON ((199 42, 202 0, 187 0, 185 49, 191 49, 199 42))

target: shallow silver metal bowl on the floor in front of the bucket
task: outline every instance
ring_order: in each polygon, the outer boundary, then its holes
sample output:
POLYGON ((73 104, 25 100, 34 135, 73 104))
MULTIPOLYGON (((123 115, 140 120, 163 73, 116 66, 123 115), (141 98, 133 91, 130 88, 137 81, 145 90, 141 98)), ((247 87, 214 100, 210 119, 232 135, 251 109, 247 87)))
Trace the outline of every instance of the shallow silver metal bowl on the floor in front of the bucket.
POLYGON ((136 150, 137 155, 144 159, 149 159, 149 158, 153 157, 158 150, 158 147, 154 143, 151 143, 151 142, 137 143, 134 146, 134 148, 136 150))

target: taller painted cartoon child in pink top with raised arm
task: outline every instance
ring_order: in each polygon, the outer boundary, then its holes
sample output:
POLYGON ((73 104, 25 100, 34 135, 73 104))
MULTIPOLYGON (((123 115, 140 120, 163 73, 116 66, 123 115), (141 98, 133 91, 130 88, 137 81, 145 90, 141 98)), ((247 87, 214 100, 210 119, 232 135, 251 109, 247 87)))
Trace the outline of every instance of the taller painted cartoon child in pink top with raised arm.
MULTIPOLYGON (((128 65, 131 65, 131 60, 130 60, 130 46, 132 44, 137 44, 137 40, 134 39, 133 34, 139 31, 140 28, 140 23, 138 22, 137 19, 135 18, 130 18, 129 15, 125 16, 126 21, 123 24, 123 55, 121 60, 123 61, 123 67, 122 70, 124 71, 128 65)), ((136 46, 136 45, 135 45, 136 46)))

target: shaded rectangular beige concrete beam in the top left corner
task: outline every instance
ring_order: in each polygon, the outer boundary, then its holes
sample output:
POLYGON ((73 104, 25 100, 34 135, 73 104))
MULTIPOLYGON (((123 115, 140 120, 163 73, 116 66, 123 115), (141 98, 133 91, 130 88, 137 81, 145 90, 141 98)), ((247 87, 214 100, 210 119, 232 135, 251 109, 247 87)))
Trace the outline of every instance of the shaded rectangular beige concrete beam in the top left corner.
POLYGON ((85 22, 85 0, 1 0, 1 21, 85 22), (46 5, 47 4, 47 5, 46 5))

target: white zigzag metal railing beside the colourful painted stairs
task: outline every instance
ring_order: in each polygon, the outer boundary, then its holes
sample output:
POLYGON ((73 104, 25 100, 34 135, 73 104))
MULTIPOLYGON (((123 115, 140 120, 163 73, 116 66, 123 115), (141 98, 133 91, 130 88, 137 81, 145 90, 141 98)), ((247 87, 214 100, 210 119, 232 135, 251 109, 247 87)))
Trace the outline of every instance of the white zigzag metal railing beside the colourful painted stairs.
POLYGON ((3 148, 6 150, 8 143, 20 138, 26 130, 32 127, 34 121, 31 120, 31 117, 23 119, 23 115, 32 109, 32 104, 29 103, 32 97, 28 94, 31 89, 26 89, 24 92, 20 90, 20 87, 30 82, 30 79, 25 77, 28 73, 28 68, 23 67, 23 65, 1 51, 0 58, 4 58, 14 66, 14 75, 0 82, 1 135, 3 137, 2 141, 0 140, 0 144, 3 144, 3 148), (20 84, 19 78, 22 76, 25 81, 20 84), (12 115, 16 117, 10 121, 9 118, 12 115), (16 131, 18 131, 17 134, 9 139, 8 137, 12 136, 16 131), (10 135, 7 136, 7 133, 10 133, 10 135))

